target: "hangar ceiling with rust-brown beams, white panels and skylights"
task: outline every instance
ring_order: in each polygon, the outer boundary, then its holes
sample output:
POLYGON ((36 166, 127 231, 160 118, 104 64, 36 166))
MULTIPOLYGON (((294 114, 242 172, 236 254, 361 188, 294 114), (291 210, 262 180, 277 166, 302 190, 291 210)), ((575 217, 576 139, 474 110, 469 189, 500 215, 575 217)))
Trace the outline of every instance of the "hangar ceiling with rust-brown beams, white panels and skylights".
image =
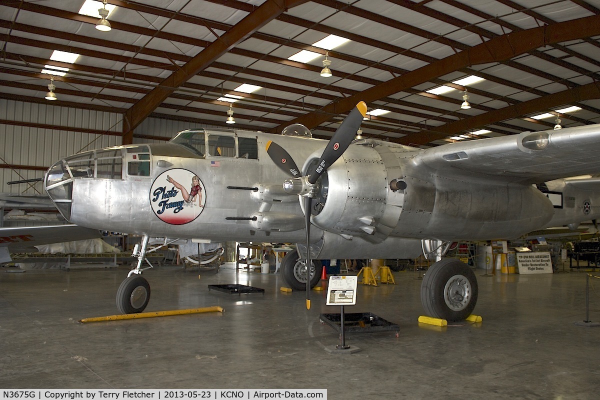
POLYGON ((122 113, 124 143, 148 116, 328 137, 359 100, 364 136, 406 145, 600 123, 600 0, 108 0, 108 32, 83 2, 0 0, 0 98, 53 79, 53 104, 122 113))

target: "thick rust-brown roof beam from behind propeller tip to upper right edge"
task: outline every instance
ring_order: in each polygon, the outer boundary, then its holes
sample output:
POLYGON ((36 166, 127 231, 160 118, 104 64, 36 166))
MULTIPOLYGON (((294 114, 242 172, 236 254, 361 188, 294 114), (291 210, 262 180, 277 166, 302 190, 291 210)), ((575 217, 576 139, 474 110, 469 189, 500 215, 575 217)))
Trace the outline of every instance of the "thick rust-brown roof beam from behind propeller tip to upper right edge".
MULTIPOLYGON (((511 32, 432 62, 403 76, 390 79, 358 94, 328 104, 319 112, 309 113, 293 121, 286 122, 286 126, 289 124, 302 124, 311 129, 331 119, 331 115, 349 112, 361 100, 367 104, 373 103, 373 101, 380 98, 391 96, 460 68, 488 62, 503 62, 547 44, 596 35, 600 35, 600 16, 598 15, 557 22, 553 25, 544 25, 520 32, 511 32), (577 29, 573 29, 573 26, 577 26, 577 29)), ((281 125, 275 128, 275 131, 281 131, 283 128, 284 126, 281 125)))

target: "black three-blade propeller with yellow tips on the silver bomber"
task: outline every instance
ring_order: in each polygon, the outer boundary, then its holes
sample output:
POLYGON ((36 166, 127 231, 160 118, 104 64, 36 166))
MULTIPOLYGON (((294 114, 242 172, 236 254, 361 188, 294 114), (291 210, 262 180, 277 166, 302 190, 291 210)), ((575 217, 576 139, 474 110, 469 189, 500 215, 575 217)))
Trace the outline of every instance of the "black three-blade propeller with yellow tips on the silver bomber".
MULTIPOLYGON (((329 143, 327 143, 325 150, 323 150, 319 163, 316 164, 316 169, 314 169, 306 178, 308 187, 314 187, 319 177, 323 175, 323 173, 325 173, 325 171, 341 157, 348 146, 350 146, 366 113, 367 104, 365 104, 364 101, 361 101, 356 104, 356 107, 348 114, 346 119, 344 119, 340 127, 337 128, 334 135, 329 140, 329 143)), ((273 142, 267 143, 266 149, 271 160, 273 160, 281 170, 289 173, 294 178, 299 178, 301 176, 298 167, 285 149, 273 142)), ((308 193, 303 193, 303 196, 305 196, 304 214, 306 227, 306 308, 310 309, 310 272, 312 266, 312 260, 310 258, 310 215, 313 207, 314 191, 310 190, 308 193)), ((314 271, 314 273, 317 272, 314 271)))

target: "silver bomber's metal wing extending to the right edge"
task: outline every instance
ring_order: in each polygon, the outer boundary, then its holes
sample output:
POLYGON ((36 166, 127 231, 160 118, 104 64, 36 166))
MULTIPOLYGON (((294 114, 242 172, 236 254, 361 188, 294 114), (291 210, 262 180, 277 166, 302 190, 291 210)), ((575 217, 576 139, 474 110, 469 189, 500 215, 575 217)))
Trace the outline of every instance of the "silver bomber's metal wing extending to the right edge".
POLYGON ((455 179, 541 184, 600 172, 600 125, 448 143, 416 154, 439 175, 455 179))

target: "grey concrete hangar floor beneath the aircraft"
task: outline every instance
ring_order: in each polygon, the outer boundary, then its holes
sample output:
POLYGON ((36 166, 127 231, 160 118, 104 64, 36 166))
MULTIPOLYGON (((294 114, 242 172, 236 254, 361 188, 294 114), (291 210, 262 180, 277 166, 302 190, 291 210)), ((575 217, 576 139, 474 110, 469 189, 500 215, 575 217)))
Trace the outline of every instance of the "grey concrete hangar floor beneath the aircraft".
MULTIPOLYGON (((127 269, 0 269, 2 389, 327 389, 328 399, 598 398, 600 327, 586 320, 586 273, 482 276, 482 323, 419 325, 420 272, 397 285, 359 285, 346 313, 371 312, 397 331, 346 333, 361 348, 335 354, 338 333, 320 322, 326 291, 280 291, 274 273, 145 272, 146 311, 221 306, 224 312, 78 323, 117 314, 127 269), (242 284, 264 294, 229 294, 242 284)), ((600 275, 596 273, 595 275, 600 275)), ((590 279, 589 320, 600 321, 600 281, 590 279), (595 281, 595 282, 594 282, 595 281)))

